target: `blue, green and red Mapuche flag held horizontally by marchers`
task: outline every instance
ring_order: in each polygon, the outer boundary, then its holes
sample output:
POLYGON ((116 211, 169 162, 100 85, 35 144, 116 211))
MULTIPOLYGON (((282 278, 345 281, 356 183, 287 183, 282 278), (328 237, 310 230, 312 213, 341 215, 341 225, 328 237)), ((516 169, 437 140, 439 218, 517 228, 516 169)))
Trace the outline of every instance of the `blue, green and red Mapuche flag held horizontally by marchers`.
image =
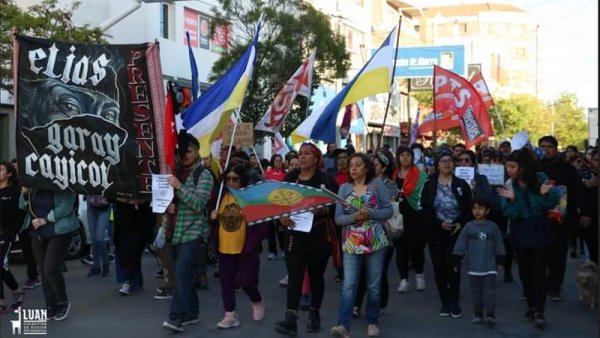
POLYGON ((248 225, 307 212, 338 202, 338 197, 323 189, 302 184, 262 181, 246 188, 229 189, 248 225))

